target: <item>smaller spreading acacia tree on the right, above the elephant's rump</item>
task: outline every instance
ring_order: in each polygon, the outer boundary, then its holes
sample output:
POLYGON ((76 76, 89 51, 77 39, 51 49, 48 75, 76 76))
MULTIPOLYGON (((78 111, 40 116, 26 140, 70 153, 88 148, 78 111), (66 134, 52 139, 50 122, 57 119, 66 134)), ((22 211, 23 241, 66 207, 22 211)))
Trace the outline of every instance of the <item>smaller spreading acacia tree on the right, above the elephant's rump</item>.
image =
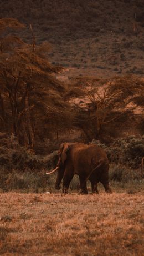
POLYGON ((82 107, 77 106, 78 125, 89 140, 99 138, 101 129, 120 118, 130 117, 144 105, 144 82, 135 76, 84 83, 82 107))

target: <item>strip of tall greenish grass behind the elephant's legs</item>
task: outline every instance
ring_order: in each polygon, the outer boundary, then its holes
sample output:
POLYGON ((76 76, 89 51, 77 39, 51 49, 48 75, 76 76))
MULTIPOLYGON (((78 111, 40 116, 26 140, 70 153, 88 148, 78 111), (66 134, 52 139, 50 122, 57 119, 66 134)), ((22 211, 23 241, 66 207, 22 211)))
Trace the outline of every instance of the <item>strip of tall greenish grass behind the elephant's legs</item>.
MULTIPOLYGON (((111 164, 109 170, 110 182, 119 184, 143 182, 144 173, 140 169, 131 169, 121 164, 111 164)), ((54 190, 56 174, 45 175, 43 170, 7 170, 4 167, 0 169, 0 192, 8 192, 11 190, 20 190, 26 193, 40 193, 54 190)), ((88 187, 90 186, 88 182, 88 187)), ((91 187, 91 186, 90 186, 91 187)), ((79 190, 79 177, 74 176, 70 183, 70 190, 79 190)))

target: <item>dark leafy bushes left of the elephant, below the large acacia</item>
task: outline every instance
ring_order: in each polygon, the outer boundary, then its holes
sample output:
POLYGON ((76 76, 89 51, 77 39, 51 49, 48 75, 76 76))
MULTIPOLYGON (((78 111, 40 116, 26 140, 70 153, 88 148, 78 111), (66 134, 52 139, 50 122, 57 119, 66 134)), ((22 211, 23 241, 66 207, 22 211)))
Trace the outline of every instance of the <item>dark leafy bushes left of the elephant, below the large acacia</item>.
POLYGON ((55 165, 57 152, 53 152, 45 157, 35 155, 33 150, 19 145, 16 138, 1 139, 0 145, 0 165, 8 170, 42 170, 55 165))

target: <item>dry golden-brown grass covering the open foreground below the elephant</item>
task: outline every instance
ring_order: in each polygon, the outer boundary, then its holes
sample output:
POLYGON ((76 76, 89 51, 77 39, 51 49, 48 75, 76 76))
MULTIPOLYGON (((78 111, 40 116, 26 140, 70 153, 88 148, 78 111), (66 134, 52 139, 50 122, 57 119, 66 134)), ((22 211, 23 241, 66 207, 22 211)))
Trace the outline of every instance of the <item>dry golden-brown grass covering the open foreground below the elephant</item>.
POLYGON ((144 255, 144 194, 0 194, 1 255, 144 255))

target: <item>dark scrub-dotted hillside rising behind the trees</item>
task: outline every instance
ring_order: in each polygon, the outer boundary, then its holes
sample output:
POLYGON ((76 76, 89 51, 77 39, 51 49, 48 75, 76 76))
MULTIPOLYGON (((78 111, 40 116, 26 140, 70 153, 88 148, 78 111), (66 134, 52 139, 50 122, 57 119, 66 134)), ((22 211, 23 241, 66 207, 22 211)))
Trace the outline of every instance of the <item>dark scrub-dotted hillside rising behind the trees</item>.
POLYGON ((52 44, 50 61, 68 75, 144 73, 143 0, 8 0, 0 1, 0 17, 26 24, 27 41, 32 23, 37 43, 52 44))

